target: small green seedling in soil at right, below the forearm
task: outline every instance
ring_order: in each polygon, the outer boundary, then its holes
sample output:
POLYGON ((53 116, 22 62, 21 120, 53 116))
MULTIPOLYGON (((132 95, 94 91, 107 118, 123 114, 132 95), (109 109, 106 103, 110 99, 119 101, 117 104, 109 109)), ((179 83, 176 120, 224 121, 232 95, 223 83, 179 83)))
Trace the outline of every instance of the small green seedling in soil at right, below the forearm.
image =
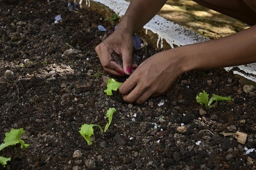
POLYGON ((199 93, 199 95, 196 96, 196 101, 197 103, 200 103, 201 105, 205 105, 205 109, 209 109, 214 107, 214 105, 212 105, 213 101, 230 101, 231 97, 222 97, 222 96, 218 96, 216 94, 212 94, 212 97, 209 99, 209 94, 207 94, 205 92, 205 90, 201 93, 199 93))

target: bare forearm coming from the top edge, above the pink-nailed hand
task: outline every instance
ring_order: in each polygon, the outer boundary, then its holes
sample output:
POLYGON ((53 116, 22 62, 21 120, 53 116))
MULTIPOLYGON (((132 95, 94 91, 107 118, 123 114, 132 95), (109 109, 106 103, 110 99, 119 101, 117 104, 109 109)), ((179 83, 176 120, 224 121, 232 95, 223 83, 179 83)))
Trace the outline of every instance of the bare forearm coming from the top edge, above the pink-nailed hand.
POLYGON ((167 0, 131 0, 118 27, 134 34, 158 13, 166 1, 167 0))

